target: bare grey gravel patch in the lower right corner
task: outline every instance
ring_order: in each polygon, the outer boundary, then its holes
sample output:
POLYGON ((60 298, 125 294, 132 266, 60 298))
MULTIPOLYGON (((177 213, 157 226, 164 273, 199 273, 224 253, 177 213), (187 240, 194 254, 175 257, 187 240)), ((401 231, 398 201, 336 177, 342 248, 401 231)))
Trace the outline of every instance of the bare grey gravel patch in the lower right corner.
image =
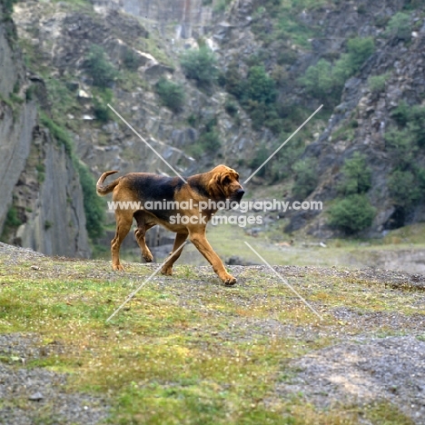
POLYGON ((320 408, 389 400, 418 425, 425 424, 425 342, 414 337, 346 342, 314 351, 291 366, 299 372, 277 392, 301 391, 320 408))

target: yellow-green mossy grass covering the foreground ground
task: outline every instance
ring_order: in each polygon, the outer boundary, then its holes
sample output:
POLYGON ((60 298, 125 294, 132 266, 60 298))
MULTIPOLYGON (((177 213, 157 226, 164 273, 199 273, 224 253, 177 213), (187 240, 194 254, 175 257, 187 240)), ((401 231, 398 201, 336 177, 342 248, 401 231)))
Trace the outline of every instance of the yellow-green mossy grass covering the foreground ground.
MULTIPOLYGON (((410 425, 389 401, 364 406, 352 400, 321 410, 308 395, 282 397, 277 389, 296 382, 292 360, 344 342, 345 333, 365 334, 359 321, 336 321, 331 311, 418 315, 417 292, 387 288, 358 272, 323 277, 322 270, 292 269, 291 283, 321 311, 319 321, 272 273, 242 268, 240 283, 224 288, 212 270, 180 265, 173 278, 155 277, 106 321, 152 267, 126 263, 126 273, 114 273, 110 262, 36 257, 40 270, 33 271, 33 259, 15 252, 1 253, 0 260, 0 332, 40 336, 35 352, 44 353, 15 367, 68 373, 61 390, 105 398, 109 423, 354 425, 366 417, 410 425)), ((368 322, 367 331, 385 331, 382 323, 368 322)), ((7 356, 1 361, 14 367, 7 356)), ((34 404, 19 394, 11 402, 20 409, 34 404)), ((46 404, 40 423, 51 423, 53 413, 46 404)))

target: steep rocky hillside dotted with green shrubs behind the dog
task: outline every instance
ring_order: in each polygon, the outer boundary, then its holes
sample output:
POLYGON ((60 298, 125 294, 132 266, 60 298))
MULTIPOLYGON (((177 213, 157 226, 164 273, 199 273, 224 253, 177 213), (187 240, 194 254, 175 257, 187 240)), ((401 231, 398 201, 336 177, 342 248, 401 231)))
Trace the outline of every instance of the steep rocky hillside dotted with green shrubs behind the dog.
MULTIPOLYGON (((13 18, 46 89, 44 125, 94 177, 172 173, 107 104, 180 173, 227 163, 242 179, 323 104, 247 189, 324 212, 274 214, 270 225, 381 237, 423 219, 417 0, 27 1, 13 18)), ((96 208, 86 211, 94 240, 96 208)))

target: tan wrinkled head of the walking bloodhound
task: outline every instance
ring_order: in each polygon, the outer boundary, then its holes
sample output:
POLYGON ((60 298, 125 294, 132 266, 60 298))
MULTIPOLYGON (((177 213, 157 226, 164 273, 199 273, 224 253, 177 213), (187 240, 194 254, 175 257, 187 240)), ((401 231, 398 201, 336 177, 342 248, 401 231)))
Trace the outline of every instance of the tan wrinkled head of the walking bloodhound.
POLYGON ((239 173, 226 165, 217 165, 210 173, 212 177, 208 183, 208 191, 213 200, 241 201, 245 191, 239 183, 239 173))

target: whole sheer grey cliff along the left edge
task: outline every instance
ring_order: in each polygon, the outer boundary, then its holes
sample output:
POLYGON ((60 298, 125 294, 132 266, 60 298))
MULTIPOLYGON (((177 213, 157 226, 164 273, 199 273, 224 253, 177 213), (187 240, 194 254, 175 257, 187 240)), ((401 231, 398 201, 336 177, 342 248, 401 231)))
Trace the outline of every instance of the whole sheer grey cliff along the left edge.
POLYGON ((0 23, 0 64, 3 238, 47 254, 88 257, 78 173, 64 146, 40 127, 33 97, 42 103, 44 86, 41 79, 32 81, 26 74, 10 21, 0 23))

